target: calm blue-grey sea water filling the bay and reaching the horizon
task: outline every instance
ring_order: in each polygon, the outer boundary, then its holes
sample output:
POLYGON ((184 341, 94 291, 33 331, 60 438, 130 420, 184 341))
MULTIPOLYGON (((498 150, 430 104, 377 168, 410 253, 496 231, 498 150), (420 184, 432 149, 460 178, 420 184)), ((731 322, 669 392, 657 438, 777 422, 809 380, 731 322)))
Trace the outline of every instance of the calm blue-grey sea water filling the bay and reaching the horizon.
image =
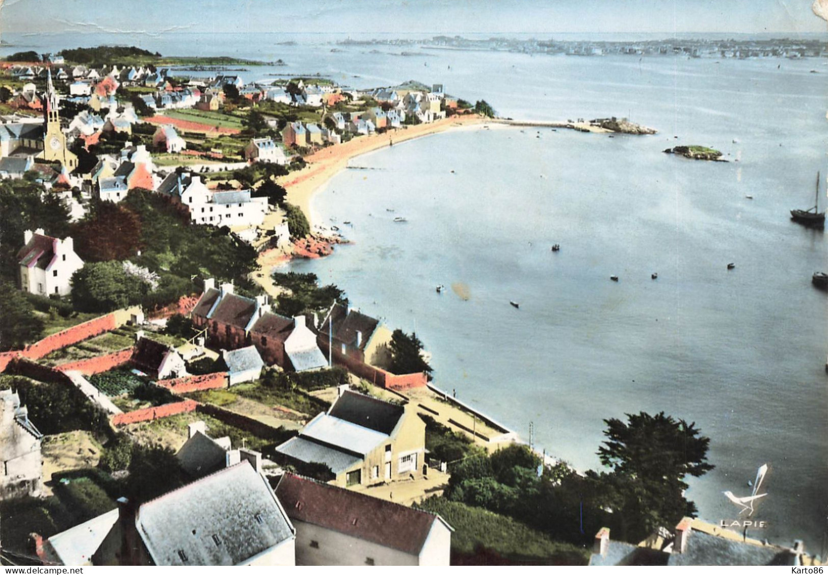
POLYGON ((354 243, 292 268, 416 331, 436 384, 523 437, 534 423, 537 446, 580 469, 599 466, 604 418, 664 411, 696 422, 716 466, 687 492, 700 516, 735 518, 721 492, 749 495, 768 463, 758 519, 769 527, 749 535, 824 551, 828 322, 810 278, 828 268, 828 250, 822 232, 788 215, 812 205, 816 171, 828 172, 823 60, 530 56, 314 35, 3 37, 13 46, 0 54, 117 41, 281 58, 238 73, 320 72, 357 88, 420 80, 503 116, 628 116, 657 128, 614 138, 478 129, 356 158, 372 169, 341 172, 313 202, 320 223, 354 243), (730 162, 662 153, 681 144, 730 162), (438 284, 469 298, 437 294, 438 284))

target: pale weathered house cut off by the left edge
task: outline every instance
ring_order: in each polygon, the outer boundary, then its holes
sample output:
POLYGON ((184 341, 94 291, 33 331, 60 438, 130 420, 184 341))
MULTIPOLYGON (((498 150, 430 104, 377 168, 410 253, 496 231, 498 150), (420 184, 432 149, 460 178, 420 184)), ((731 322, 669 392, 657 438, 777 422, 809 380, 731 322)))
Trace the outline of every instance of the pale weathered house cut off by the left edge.
POLYGON ((11 389, 0 391, 0 500, 40 495, 43 480, 41 438, 28 410, 11 389))

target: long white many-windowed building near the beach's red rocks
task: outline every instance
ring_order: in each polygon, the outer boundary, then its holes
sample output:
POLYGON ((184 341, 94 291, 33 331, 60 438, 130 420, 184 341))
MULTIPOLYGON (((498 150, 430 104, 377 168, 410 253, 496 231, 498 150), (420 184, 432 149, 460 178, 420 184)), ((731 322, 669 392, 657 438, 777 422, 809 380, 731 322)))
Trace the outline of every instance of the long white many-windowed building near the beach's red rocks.
POLYGON ((158 186, 161 194, 185 205, 194 224, 216 226, 262 225, 266 197, 252 197, 249 190, 211 191, 195 174, 172 172, 158 186))

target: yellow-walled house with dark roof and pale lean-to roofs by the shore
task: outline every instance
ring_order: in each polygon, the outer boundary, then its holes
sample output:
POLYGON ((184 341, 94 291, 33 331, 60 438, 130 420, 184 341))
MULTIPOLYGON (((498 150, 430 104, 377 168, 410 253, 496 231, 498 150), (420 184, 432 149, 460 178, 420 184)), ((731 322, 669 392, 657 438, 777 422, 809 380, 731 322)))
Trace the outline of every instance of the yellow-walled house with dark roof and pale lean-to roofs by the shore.
MULTIPOLYGON (((346 386, 344 386, 346 387, 346 386)), ((337 486, 370 486, 421 476, 426 423, 411 403, 397 405, 349 389, 276 447, 287 461, 328 466, 337 486)))

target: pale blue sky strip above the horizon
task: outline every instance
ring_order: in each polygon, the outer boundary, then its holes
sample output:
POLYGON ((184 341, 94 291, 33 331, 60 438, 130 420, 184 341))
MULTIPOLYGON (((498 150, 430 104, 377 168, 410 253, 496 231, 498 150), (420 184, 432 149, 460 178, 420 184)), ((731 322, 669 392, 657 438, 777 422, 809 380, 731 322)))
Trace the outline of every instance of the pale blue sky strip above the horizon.
MULTIPOLYGON (((825 2, 826 0, 816 0, 825 2)), ((0 31, 826 32, 814 0, 0 0, 0 31)))

